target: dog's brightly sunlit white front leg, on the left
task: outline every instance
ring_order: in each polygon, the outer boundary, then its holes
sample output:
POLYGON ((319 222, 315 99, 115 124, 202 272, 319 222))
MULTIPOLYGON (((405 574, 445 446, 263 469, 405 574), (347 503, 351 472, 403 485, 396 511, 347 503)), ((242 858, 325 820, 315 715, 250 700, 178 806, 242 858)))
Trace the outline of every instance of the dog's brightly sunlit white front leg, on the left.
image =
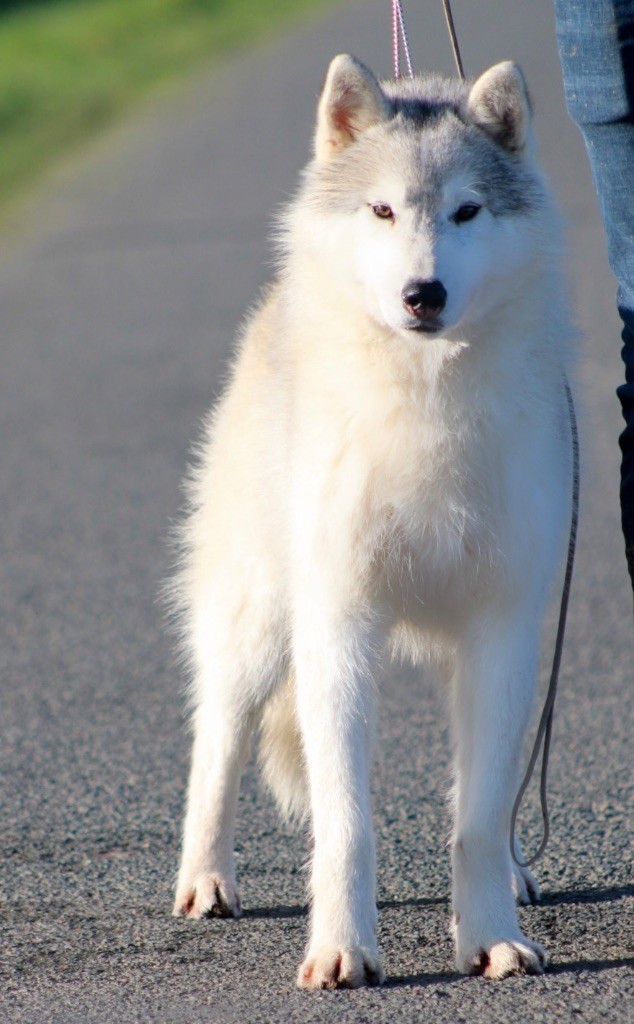
POLYGON ((302 988, 355 988, 384 978, 370 801, 375 640, 358 616, 329 618, 319 597, 296 623, 314 839, 310 939, 297 979, 302 988))

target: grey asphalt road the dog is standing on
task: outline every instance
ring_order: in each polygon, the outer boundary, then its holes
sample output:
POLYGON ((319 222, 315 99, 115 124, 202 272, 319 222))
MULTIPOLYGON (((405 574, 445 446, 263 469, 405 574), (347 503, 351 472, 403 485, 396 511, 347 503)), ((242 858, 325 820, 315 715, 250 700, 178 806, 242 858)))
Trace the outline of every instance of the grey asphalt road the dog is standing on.
MULTIPOLYGON (((406 10, 417 67, 451 73, 439 0, 406 10)), ((169 915, 188 756, 157 599, 169 524, 235 327, 270 273, 271 214, 305 160, 324 69, 349 50, 390 72, 389 5, 365 0, 155 97, 59 168, 1 240, 3 1022, 632 1019, 633 631, 614 284, 548 0, 455 0, 455 16, 469 73, 513 56, 533 87, 583 331, 553 836, 543 903, 522 910, 548 973, 498 984, 454 973, 442 702, 403 674, 385 688, 375 779, 386 986, 294 990, 307 847, 252 770, 238 830, 244 918, 169 915)), ((534 799, 524 828, 535 839, 534 799)))

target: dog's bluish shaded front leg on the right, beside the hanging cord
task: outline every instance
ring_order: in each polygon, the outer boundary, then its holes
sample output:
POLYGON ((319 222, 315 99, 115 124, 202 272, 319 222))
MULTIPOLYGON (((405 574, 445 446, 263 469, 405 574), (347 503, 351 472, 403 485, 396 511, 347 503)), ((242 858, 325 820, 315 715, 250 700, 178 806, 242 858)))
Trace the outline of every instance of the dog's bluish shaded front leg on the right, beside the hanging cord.
POLYGON ((519 930, 508 846, 537 651, 530 610, 492 613, 461 643, 453 681, 453 929, 458 969, 488 978, 540 974, 544 965, 519 930))

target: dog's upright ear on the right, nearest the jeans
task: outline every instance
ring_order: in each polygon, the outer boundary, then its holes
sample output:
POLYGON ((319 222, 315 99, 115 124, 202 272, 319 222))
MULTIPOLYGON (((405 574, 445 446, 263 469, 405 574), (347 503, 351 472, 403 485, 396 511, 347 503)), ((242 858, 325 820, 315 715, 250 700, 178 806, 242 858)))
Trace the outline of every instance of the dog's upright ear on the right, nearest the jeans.
POLYGON ((504 60, 476 79, 469 113, 479 128, 509 153, 521 154, 531 130, 533 106, 516 63, 504 60))

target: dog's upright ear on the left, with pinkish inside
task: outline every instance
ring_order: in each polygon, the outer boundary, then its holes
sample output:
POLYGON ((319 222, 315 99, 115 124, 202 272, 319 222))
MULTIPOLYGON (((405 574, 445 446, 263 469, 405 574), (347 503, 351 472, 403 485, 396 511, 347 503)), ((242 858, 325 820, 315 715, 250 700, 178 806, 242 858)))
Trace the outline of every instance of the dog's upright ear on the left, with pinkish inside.
POLYGON ((318 162, 331 160, 388 116, 389 103, 372 72, 355 57, 340 53, 331 60, 318 106, 318 162))

